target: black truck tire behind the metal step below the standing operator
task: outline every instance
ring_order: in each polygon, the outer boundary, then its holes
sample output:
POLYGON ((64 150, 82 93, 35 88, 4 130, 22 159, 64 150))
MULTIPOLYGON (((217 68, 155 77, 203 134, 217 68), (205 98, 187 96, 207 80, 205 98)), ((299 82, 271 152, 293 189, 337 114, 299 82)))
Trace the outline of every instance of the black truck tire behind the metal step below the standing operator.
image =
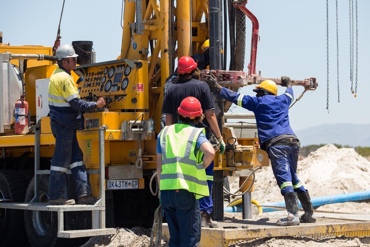
MULTIPOLYGON (((25 202, 30 202, 35 195, 35 177, 32 178, 27 192, 25 202)), ((48 176, 40 176, 39 179, 39 202, 47 203, 49 193, 48 176)), ((73 239, 58 238, 58 216, 56 212, 25 210, 24 222, 26 232, 31 246, 35 247, 58 247, 73 246, 73 239)))

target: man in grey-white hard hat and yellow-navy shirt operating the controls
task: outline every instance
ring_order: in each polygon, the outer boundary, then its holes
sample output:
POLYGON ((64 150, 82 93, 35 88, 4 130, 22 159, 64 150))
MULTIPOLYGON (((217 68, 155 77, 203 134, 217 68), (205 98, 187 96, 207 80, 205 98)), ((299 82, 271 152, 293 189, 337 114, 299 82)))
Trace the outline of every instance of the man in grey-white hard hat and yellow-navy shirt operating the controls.
POLYGON ((55 137, 55 150, 50 166, 49 203, 74 205, 74 199, 66 199, 64 188, 69 168, 74 178, 78 204, 94 204, 91 185, 83 162, 83 153, 78 146, 76 130, 84 129, 82 112, 105 106, 100 97, 96 102, 80 99, 71 71, 76 68, 77 54, 70 44, 56 50, 58 68, 50 77, 49 109, 51 132, 55 137))

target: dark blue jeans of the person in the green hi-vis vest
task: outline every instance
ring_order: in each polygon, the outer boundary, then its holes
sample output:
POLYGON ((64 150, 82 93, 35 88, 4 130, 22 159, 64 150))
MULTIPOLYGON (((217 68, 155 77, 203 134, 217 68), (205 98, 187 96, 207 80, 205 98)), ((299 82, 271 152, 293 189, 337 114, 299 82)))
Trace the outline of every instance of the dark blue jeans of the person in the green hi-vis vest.
POLYGON ((161 204, 170 232, 169 247, 196 247, 202 219, 199 203, 187 190, 161 190, 161 204))

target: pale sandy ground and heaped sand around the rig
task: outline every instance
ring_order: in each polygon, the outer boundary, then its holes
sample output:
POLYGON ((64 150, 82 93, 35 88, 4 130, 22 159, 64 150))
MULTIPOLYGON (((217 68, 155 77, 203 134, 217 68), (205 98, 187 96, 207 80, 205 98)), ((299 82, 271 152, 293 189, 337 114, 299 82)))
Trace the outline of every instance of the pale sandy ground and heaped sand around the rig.
MULTIPOLYGON (((298 178, 308 189, 311 198, 366 191, 370 188, 370 162, 358 155, 352 148, 337 149, 328 144, 298 162, 298 178)), ((229 178, 230 190, 235 191, 239 184, 236 178, 229 178)), ((252 199, 263 205, 283 201, 276 185, 271 167, 263 167, 256 172, 252 199)), ((233 198, 231 198, 233 200, 233 198)), ((227 203, 225 204, 227 206, 227 203)), ((369 213, 370 201, 346 202, 320 206, 319 210, 332 212, 369 213)), ((255 217, 268 217, 262 214, 255 217)), ((242 213, 224 213, 226 218, 242 219, 242 213)), ((114 236, 94 237, 83 247, 148 247, 151 229, 135 227, 120 228, 114 236)), ((168 246, 162 239, 162 246, 168 246)), ((304 236, 263 238, 241 241, 230 247, 370 247, 370 237, 346 238, 322 237, 311 239, 304 236)))

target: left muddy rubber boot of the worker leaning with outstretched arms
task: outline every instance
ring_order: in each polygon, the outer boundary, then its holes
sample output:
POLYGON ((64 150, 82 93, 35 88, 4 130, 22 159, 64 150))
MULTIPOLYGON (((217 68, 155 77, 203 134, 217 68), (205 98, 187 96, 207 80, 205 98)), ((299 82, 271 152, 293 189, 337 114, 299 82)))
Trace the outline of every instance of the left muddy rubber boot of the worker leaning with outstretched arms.
POLYGON ((285 206, 288 211, 288 217, 279 219, 278 226, 299 226, 298 217, 298 196, 296 192, 288 192, 284 195, 285 206))

